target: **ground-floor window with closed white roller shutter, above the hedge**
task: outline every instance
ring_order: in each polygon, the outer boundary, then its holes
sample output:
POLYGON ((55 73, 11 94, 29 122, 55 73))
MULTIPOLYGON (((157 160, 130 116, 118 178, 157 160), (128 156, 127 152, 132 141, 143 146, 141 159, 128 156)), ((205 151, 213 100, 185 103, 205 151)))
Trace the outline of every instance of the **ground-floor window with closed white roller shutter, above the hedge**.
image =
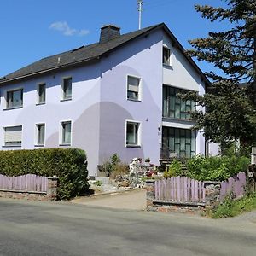
POLYGON ((12 126, 4 128, 4 145, 21 146, 22 126, 12 126))

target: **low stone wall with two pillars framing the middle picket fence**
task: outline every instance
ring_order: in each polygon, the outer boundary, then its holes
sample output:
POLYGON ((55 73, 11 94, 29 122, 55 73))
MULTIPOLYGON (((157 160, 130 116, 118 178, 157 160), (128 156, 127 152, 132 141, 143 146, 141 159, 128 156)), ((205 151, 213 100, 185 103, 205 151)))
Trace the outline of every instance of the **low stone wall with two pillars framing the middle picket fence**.
POLYGON ((204 203, 155 200, 154 180, 146 182, 146 189, 147 210, 154 212, 201 213, 205 212, 207 208, 215 207, 220 200, 219 182, 205 182, 206 201, 204 203))

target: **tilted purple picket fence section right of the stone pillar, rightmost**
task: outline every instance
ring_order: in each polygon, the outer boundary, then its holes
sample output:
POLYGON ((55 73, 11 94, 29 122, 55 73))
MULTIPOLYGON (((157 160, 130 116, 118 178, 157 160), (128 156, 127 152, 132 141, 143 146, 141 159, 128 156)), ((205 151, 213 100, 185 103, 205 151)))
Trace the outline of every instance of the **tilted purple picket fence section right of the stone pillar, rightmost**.
POLYGON ((226 195, 232 194, 235 198, 239 198, 246 192, 247 178, 245 172, 239 172, 235 177, 230 177, 227 181, 223 181, 220 187, 220 200, 226 195))

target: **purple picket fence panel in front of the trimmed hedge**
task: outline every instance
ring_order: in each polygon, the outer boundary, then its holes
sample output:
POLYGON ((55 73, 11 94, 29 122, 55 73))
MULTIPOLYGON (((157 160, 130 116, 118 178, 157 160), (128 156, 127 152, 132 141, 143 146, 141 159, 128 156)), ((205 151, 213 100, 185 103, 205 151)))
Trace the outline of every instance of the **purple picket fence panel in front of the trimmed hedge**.
POLYGON ((0 174, 0 190, 47 192, 48 178, 34 174, 8 177, 0 174))

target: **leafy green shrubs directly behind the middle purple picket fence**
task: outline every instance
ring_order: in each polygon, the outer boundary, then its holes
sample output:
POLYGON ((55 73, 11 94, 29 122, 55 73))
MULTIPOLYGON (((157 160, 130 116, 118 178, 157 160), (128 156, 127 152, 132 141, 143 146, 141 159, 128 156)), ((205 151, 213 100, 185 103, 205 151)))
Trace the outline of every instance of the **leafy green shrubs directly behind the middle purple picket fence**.
POLYGON ((223 181, 238 172, 247 171, 250 159, 245 156, 195 156, 188 160, 188 176, 201 181, 223 181))

